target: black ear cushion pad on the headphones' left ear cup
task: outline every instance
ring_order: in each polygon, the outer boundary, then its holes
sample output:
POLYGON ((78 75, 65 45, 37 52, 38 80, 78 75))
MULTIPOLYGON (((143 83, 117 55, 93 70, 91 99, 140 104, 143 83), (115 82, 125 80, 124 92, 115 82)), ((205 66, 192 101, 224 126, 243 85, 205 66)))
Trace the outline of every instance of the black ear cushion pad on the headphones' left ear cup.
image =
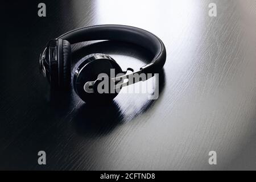
POLYGON ((64 88, 69 88, 71 84, 71 46, 67 40, 63 40, 63 77, 60 80, 64 88))

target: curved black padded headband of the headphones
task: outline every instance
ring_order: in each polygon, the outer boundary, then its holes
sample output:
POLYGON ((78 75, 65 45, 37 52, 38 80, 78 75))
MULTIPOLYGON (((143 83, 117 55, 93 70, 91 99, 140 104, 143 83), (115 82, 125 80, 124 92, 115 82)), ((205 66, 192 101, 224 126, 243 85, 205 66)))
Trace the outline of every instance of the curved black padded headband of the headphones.
POLYGON ((152 60, 153 64, 143 69, 146 73, 155 73, 163 67, 166 61, 166 48, 162 40, 141 28, 112 24, 84 27, 67 32, 57 39, 68 40, 71 44, 90 40, 116 40, 137 44, 155 55, 152 60))

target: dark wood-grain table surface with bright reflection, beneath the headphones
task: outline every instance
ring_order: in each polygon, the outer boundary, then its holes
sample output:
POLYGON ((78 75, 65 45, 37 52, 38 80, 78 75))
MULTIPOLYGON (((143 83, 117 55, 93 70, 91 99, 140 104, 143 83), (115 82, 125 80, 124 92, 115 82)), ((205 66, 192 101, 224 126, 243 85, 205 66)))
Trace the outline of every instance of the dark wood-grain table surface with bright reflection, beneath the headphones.
MULTIPOLYGON (((42 1, 45 18, 39 2, 1 2, 0 169, 256 169, 255 1, 42 1), (96 24, 136 26, 163 40, 158 100, 121 93, 97 107, 75 92, 49 94, 39 53, 49 39, 96 24), (41 150, 47 164, 39 166, 41 150)), ((72 50, 73 64, 96 52, 123 69, 150 59, 118 42, 72 50)))

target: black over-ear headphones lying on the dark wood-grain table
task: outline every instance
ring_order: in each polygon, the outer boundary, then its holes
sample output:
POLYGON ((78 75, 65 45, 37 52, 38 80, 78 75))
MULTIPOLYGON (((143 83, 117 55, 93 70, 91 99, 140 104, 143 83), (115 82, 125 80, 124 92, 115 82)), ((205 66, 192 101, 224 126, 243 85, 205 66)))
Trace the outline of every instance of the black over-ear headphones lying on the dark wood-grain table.
MULTIPOLYGON (((40 55, 40 72, 43 73, 44 77, 47 77, 51 89, 67 90, 70 88, 71 44, 90 40, 116 40, 133 43, 148 49, 154 55, 151 63, 140 68, 138 71, 134 72, 133 69, 128 68, 127 70, 133 73, 123 74, 123 76, 119 77, 109 77, 114 87, 119 86, 120 89, 122 86, 127 85, 127 82, 126 84, 120 84, 120 80, 133 78, 132 76, 135 74, 158 73, 166 62, 166 48, 162 40, 141 28, 112 24, 79 28, 50 40, 40 55), (118 84, 117 81, 119 81, 118 84)), ((109 55, 94 53, 85 56, 73 69, 72 78, 75 92, 85 102, 113 100, 117 96, 117 92, 108 94, 97 92, 97 85, 100 80, 98 75, 106 73, 106 75, 110 76, 110 69, 115 70, 115 75, 126 73, 122 71, 117 62, 109 55)), ((132 83, 134 84, 135 82, 133 81, 132 83)))

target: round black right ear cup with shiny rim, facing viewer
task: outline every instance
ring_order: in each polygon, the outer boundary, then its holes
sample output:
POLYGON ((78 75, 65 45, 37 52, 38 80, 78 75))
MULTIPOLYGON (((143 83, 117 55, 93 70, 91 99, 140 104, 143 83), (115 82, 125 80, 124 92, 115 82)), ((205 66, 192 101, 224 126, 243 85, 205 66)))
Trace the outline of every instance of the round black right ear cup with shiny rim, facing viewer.
POLYGON ((121 67, 114 59, 104 54, 92 54, 85 56, 73 69, 73 87, 77 95, 85 102, 99 104, 112 101, 118 93, 87 93, 84 85, 88 81, 96 81, 98 75, 105 73, 109 78, 122 73, 121 67), (110 69, 114 70, 114 75, 110 74, 110 69))

